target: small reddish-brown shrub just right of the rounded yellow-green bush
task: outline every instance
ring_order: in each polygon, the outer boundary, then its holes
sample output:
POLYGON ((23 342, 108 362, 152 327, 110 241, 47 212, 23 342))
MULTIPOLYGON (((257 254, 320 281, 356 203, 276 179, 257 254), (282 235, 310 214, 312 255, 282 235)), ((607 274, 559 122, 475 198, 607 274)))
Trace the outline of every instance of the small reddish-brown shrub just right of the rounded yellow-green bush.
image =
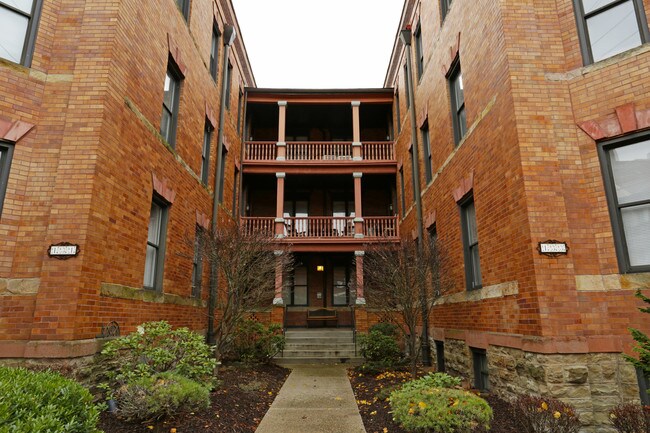
POLYGON ((513 406, 519 409, 517 421, 522 433, 578 433, 580 430, 575 408, 560 400, 522 395, 513 406))

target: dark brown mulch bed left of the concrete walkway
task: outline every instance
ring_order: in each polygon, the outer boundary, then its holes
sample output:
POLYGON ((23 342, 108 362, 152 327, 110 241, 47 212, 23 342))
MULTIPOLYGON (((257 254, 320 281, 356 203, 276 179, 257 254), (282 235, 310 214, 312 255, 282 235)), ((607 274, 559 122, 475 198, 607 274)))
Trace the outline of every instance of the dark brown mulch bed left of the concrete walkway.
POLYGON ((222 383, 212 392, 212 404, 205 411, 144 424, 128 423, 105 412, 98 427, 105 433, 254 432, 288 375, 289 370, 275 365, 222 367, 222 383))

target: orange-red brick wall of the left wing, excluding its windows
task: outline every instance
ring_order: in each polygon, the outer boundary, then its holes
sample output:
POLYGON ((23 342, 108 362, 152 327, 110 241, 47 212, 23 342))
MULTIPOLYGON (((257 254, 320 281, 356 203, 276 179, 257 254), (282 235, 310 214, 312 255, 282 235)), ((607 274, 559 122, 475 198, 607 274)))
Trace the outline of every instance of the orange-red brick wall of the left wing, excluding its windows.
MULTIPOLYGON (((230 21, 219 2, 218 22, 230 21)), ((176 2, 44 2, 32 68, 0 62, 0 115, 36 125, 16 144, 0 220, 0 278, 40 278, 35 297, 2 297, 0 339, 92 338, 111 320, 123 330, 166 319, 205 328, 205 311, 172 304, 100 296, 102 283, 141 288, 152 173, 176 193, 169 211, 163 292, 189 297, 197 211, 212 214, 217 162, 213 133, 208 186, 200 184, 206 104, 218 119, 219 83, 209 50, 214 4, 192 1, 189 24, 176 2), (175 151, 159 139, 168 36, 187 66, 182 83, 175 151), (47 74, 47 76, 43 75, 47 74), (67 261, 47 257, 47 246, 78 243, 67 261), (33 322, 33 324, 32 324, 33 322), (31 328, 31 329, 30 329, 31 328)), ((241 43, 241 42, 237 42, 241 43)), ((231 50, 230 110, 222 218, 229 218, 239 88, 247 60, 231 50)), ((215 125, 216 127, 217 125, 215 125)), ((206 298, 208 266, 204 266, 206 298)))

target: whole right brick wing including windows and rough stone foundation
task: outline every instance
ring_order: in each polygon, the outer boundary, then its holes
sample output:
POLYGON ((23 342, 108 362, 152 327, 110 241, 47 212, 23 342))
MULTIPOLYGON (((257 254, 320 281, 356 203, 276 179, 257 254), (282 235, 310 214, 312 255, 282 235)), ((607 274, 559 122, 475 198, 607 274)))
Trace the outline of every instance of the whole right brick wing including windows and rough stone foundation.
MULTIPOLYGON (((422 224, 456 281, 432 324, 446 368, 560 397, 594 425, 638 398, 620 353, 628 327, 650 328, 633 296, 650 288, 649 6, 407 1, 414 101, 399 38, 385 82, 400 173, 417 140, 422 224), (540 254, 548 240, 568 254, 540 254)), ((406 183, 400 230, 415 237, 406 183)))

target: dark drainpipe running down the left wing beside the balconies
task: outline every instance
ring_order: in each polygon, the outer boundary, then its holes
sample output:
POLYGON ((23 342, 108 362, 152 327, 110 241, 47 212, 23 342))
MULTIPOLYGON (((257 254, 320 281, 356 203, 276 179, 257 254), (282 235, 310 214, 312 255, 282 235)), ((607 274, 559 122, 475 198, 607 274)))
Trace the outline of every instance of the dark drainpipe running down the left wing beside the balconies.
MULTIPOLYGON (((217 220, 219 216, 219 191, 221 190, 221 182, 223 173, 221 172, 221 158, 223 157, 223 126, 226 115, 226 85, 228 84, 228 53, 237 32, 235 28, 230 25, 224 25, 223 29, 223 66, 221 68, 221 105, 219 107, 219 125, 217 128, 217 157, 215 158, 215 171, 214 171, 214 191, 212 197, 212 224, 210 229, 214 233, 217 229, 217 220)), ((210 268, 210 292, 208 295, 208 335, 207 342, 214 345, 215 332, 214 332, 214 310, 217 307, 217 286, 218 286, 218 270, 217 264, 212 263, 210 268)))

